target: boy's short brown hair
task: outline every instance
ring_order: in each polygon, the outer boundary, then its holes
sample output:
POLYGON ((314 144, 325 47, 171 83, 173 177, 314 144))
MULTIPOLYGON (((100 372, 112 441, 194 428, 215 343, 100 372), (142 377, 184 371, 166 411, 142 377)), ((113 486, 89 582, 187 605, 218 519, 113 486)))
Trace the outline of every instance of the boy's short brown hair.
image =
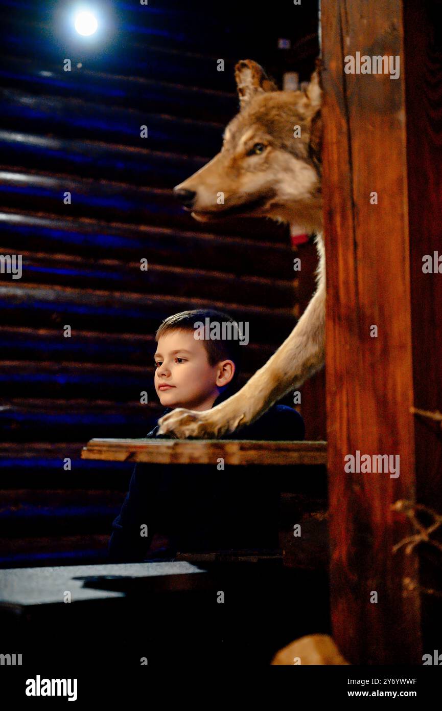
POLYGON ((164 336, 168 331, 191 331, 195 333, 197 321, 202 321, 205 324, 205 319, 210 319, 210 323, 219 323, 222 321, 225 323, 229 322, 231 324, 236 324, 235 331, 238 333, 238 338, 225 338, 212 340, 211 338, 202 338, 201 341, 207 353, 207 360, 209 365, 216 365, 220 363, 220 360, 233 360, 235 363, 235 373, 232 380, 228 385, 225 386, 225 390, 233 389, 233 386, 237 382, 239 375, 239 368, 241 367, 241 348, 239 342, 242 338, 242 334, 239 331, 239 326, 232 316, 225 314, 223 311, 215 311, 215 309, 193 309, 192 311, 180 311, 179 314, 173 314, 173 316, 168 316, 164 319, 161 326, 159 326, 158 331, 155 334, 155 341, 158 343, 158 338, 164 336))

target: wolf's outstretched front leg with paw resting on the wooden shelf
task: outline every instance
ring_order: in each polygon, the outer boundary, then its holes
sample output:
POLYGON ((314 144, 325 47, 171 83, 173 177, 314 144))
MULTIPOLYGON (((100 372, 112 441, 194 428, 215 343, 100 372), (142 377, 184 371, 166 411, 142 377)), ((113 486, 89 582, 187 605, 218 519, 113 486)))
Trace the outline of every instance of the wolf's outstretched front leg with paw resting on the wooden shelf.
POLYGON ((292 388, 299 387, 324 362, 325 355, 325 262, 322 240, 318 288, 306 311, 286 341, 257 370, 239 392, 212 410, 195 412, 180 407, 158 420, 158 434, 178 439, 222 437, 258 419, 292 388))

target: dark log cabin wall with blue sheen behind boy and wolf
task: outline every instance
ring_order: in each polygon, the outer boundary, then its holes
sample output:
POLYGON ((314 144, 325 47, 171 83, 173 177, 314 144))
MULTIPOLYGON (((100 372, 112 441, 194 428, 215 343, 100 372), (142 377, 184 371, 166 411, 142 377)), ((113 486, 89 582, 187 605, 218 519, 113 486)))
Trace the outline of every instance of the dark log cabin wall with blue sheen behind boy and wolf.
MULTIPOLYGON (((289 234, 274 223, 209 231, 171 196, 220 149, 237 112, 237 60, 257 60, 279 82, 286 70, 308 79, 315 4, 296 8, 296 22, 290 8, 263 27, 228 2, 222 12, 116 3, 113 38, 88 51, 63 35, 57 6, 0 10, 0 254, 23 258, 21 279, 0 281, 4 567, 105 560, 133 465, 81 461, 80 448, 92 437, 144 437, 158 417, 162 319, 213 307, 249 321, 242 384, 293 328, 316 268, 313 245, 298 247, 298 283, 289 234), (286 37, 291 49, 278 48, 286 37)), ((325 439, 323 374, 300 409, 306 437, 325 439)))

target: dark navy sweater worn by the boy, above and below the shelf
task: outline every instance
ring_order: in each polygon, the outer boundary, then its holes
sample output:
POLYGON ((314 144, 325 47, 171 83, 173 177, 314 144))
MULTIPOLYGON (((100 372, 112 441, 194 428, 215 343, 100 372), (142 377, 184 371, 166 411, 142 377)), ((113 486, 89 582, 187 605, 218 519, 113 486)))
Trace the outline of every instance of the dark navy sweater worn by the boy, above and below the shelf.
MULTIPOLYGON (((220 395, 213 407, 222 401, 220 395)), ((170 412, 167 409, 163 412, 170 412)), ((157 435, 157 424, 148 438, 157 435)), ((304 439, 296 410, 273 405, 256 422, 220 439, 304 439)), ((259 465, 259 462, 257 462, 259 465)), ((277 468, 276 468, 277 469, 277 468)), ((136 464, 122 510, 112 523, 109 558, 142 561, 154 533, 168 536, 171 551, 278 547, 279 487, 269 466, 136 464), (146 525, 148 536, 140 535, 146 525)))

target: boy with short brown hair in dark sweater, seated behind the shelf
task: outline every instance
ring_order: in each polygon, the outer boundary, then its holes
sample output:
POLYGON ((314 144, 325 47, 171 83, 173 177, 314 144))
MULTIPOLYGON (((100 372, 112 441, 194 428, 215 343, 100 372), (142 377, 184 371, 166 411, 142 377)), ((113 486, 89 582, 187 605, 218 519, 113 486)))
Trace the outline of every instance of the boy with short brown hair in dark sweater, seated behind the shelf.
MULTIPOLYGON (((226 333, 226 331, 220 332, 226 333)), ((169 316, 156 332, 155 389, 163 415, 175 407, 209 410, 232 395, 241 360, 241 333, 231 316, 195 309, 169 316), (196 324, 230 324, 237 338, 200 339, 196 324)), ((156 437, 159 426, 147 437, 156 437)), ((158 435, 167 438, 167 435, 158 435)), ((273 405, 257 422, 222 439, 304 438, 301 415, 273 405)), ((259 464, 259 463, 257 463, 259 464)), ((122 510, 112 524, 109 557, 115 562, 171 557, 177 550, 278 547, 279 491, 269 468, 262 476, 218 471, 216 464, 136 464, 122 510), (146 537, 141 535, 147 527, 146 537)), ((236 470, 236 471, 235 471, 236 470)))

